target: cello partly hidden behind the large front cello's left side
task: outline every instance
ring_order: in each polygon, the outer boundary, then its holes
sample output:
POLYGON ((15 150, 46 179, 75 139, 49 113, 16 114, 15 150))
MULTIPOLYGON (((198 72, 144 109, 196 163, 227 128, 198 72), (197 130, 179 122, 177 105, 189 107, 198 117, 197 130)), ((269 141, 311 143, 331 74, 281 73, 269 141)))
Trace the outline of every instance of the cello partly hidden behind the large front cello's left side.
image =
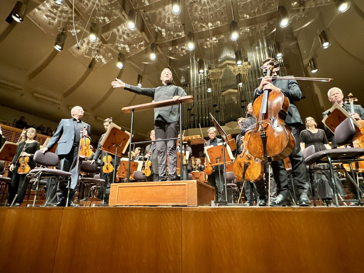
POLYGON ((253 157, 247 149, 247 143, 252 131, 249 130, 244 135, 243 150, 235 159, 233 173, 242 180, 256 182, 263 178, 264 163, 259 158, 253 157))

